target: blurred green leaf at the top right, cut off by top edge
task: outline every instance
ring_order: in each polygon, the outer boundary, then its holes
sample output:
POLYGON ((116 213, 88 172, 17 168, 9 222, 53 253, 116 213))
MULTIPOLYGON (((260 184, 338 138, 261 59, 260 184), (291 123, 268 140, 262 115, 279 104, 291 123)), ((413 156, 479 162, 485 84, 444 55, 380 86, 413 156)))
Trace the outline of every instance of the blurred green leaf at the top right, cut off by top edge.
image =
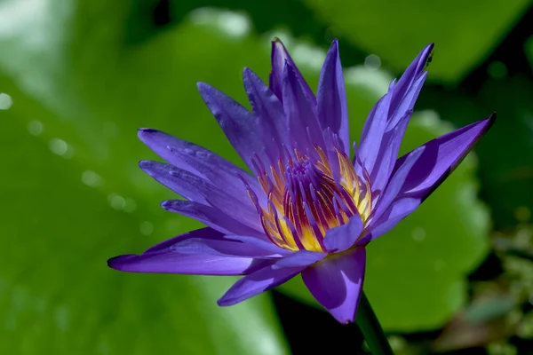
POLYGON ((435 43, 434 80, 457 83, 505 36, 528 0, 432 2, 306 0, 334 31, 401 72, 435 43))

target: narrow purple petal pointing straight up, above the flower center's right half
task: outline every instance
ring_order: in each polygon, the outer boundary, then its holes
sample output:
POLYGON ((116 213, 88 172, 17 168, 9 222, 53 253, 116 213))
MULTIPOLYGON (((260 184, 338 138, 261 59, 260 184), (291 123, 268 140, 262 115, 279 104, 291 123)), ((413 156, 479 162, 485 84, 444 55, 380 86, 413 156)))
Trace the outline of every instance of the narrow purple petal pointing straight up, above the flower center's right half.
POLYGON ((318 83, 317 114, 322 130, 330 128, 343 143, 344 152, 350 152, 348 108, 338 42, 334 40, 326 55, 318 83))

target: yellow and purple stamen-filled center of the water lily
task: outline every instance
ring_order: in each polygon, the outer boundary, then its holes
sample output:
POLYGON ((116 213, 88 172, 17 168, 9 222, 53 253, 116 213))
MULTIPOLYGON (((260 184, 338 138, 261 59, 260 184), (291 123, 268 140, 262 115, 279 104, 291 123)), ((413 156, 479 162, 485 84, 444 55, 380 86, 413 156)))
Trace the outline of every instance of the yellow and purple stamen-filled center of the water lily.
POLYGON ((260 162, 256 166, 267 206, 259 204, 251 189, 249 194, 265 233, 281 248, 326 251, 323 239, 328 230, 357 214, 364 225, 370 216, 368 174, 359 176, 350 158, 338 150, 334 174, 326 154, 320 147, 315 150, 314 157, 295 151, 288 162, 280 160, 269 171, 260 162))

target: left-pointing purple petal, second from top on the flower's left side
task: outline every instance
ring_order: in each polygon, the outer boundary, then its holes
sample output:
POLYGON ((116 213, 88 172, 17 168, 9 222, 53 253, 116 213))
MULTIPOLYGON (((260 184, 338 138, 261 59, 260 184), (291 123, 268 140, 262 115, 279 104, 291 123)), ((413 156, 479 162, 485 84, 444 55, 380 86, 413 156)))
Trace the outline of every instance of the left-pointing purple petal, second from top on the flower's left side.
POLYGON ((237 199, 231 190, 218 188, 202 177, 163 162, 141 161, 139 166, 156 181, 187 200, 212 206, 227 215, 237 214, 244 224, 256 231, 263 230, 257 210, 250 199, 237 199))

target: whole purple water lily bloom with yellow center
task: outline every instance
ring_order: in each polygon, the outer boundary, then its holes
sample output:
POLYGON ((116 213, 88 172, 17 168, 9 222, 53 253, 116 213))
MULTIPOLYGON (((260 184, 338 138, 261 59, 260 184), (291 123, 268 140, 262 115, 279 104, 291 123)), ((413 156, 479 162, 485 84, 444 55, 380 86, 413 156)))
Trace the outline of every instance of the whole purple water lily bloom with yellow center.
POLYGON ((268 86, 244 69, 252 112, 198 83, 252 174, 201 146, 139 130, 139 138, 169 162, 141 161, 140 168, 185 198, 163 201, 163 208, 208 226, 140 255, 111 258, 109 266, 125 272, 245 275, 219 299, 222 306, 301 273, 333 317, 354 321, 365 246, 417 209, 495 119, 493 114, 397 159, 432 48, 426 46, 372 108, 354 154, 337 41, 324 61, 316 96, 277 39, 268 86))

